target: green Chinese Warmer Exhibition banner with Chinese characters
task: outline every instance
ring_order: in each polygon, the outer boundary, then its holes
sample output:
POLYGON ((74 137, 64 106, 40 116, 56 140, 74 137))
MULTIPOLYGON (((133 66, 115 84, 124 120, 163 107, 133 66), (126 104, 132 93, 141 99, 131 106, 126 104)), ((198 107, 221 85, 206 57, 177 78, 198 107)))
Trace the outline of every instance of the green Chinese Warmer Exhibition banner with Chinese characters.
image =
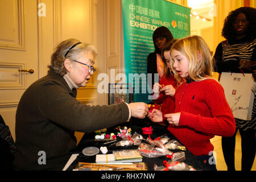
POLYGON ((176 39, 190 35, 190 9, 165 0, 122 0, 125 75, 135 102, 150 102, 147 55, 155 51, 154 30, 169 28, 176 39))

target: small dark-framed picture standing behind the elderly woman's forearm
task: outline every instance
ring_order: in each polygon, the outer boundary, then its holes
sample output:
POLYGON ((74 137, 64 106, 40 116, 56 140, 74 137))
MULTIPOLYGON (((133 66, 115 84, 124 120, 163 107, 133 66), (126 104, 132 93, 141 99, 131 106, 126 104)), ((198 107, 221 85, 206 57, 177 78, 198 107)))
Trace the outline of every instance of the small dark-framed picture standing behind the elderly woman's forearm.
POLYGON ((131 84, 112 83, 109 84, 109 101, 108 104, 119 104, 122 102, 133 102, 133 88, 131 84))

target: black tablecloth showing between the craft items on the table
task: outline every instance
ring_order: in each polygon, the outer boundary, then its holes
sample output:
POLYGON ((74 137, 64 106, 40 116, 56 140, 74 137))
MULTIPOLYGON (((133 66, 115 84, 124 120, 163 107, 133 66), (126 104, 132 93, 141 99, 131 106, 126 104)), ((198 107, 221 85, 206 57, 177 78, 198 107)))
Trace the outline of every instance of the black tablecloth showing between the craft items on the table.
MULTIPOLYGON (((138 118, 131 118, 130 122, 122 123, 121 125, 116 125, 113 127, 108 128, 106 133, 110 134, 117 126, 127 126, 127 128, 131 128, 131 134, 134 134, 137 132, 138 134, 141 134, 144 139, 147 139, 148 135, 142 134, 142 128, 143 127, 150 127, 153 128, 153 133, 150 135, 151 139, 155 139, 157 137, 160 137, 163 134, 167 134, 168 137, 171 139, 177 140, 174 135, 172 135, 168 130, 167 126, 159 125, 159 123, 151 122, 148 118, 146 119, 138 119, 138 118)), ((117 133, 117 130, 115 130, 114 133, 117 133)), ((82 139, 80 140, 79 144, 77 144, 77 147, 71 151, 71 154, 79 154, 77 156, 76 160, 69 166, 67 170, 72 170, 76 167, 76 165, 79 162, 87 162, 87 163, 95 163, 96 161, 96 155, 94 156, 85 156, 82 154, 82 150, 86 147, 98 147, 100 149, 103 143, 106 141, 94 141, 95 133, 85 133, 82 139)), ((177 140, 179 141, 179 140, 177 140)), ((142 140, 143 143, 147 143, 146 141, 142 140)), ((181 143, 182 144, 182 143, 181 143)), ((123 149, 137 149, 138 146, 130 146, 130 147, 108 147, 108 154, 112 154, 112 152, 115 150, 123 150, 123 149)), ((178 152, 180 150, 172 150, 173 152, 178 152)), ((201 162, 201 160, 197 159, 195 155, 193 155, 187 148, 184 151, 185 152, 185 160, 184 162, 188 164, 189 166, 192 166, 196 170, 203 170, 203 171, 210 171, 211 169, 201 162)), ((101 152, 99 153, 101 154, 101 152)), ((147 158, 143 156, 142 162, 147 163, 148 171, 154 171, 154 164, 157 166, 163 166, 164 160, 170 160, 166 158, 166 156, 160 156, 158 158, 147 158)))

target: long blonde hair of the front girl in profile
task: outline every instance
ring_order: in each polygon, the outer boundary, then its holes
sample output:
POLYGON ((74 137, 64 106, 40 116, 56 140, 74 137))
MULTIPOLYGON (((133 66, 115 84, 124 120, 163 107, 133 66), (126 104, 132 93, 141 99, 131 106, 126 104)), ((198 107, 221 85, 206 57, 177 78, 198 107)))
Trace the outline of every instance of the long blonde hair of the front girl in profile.
MULTIPOLYGON (((179 51, 188 59, 188 76, 194 81, 201 81, 208 78, 213 78, 212 56, 210 49, 201 36, 189 36, 174 43, 172 50, 179 51), (198 52, 202 54, 202 59, 198 60, 198 52)), ((170 67, 174 72, 174 77, 177 83, 180 83, 184 78, 175 71, 174 60, 171 57, 170 67)))

